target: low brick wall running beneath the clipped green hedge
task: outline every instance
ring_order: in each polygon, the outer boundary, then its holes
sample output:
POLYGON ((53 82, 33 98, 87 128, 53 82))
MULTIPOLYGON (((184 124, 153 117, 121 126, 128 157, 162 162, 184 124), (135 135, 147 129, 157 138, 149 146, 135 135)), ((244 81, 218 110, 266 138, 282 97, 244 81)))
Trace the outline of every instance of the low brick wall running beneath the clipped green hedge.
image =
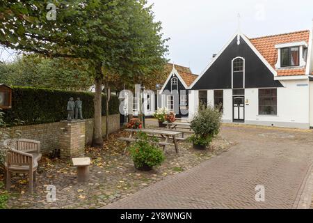
MULTIPOLYGON (((106 116, 102 116, 102 132, 106 134, 106 116)), ((48 154, 54 149, 60 148, 60 137, 63 134, 61 123, 47 123, 40 125, 22 125, 13 127, 12 130, 21 131, 23 139, 34 139, 41 143, 42 153, 48 154)), ((120 129, 120 114, 109 116, 109 133, 120 129)), ((85 144, 90 144, 93 140, 93 118, 86 120, 85 144)))

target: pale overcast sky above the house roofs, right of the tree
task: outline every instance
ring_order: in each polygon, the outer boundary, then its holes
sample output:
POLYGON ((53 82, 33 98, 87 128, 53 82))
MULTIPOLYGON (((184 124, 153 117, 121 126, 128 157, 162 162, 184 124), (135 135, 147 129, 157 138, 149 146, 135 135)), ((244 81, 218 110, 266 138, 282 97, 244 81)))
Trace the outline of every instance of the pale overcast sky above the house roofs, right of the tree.
POLYGON ((162 22, 168 42, 168 59, 190 66, 200 75, 236 32, 249 38, 310 29, 312 0, 148 0, 156 20, 162 22))

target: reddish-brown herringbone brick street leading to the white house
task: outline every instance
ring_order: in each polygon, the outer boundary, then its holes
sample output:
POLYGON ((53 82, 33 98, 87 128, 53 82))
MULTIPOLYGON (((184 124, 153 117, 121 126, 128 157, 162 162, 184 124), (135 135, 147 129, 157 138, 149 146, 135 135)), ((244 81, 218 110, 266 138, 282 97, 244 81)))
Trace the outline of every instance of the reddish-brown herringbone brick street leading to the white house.
POLYGON ((297 208, 312 132, 224 126, 230 151, 104 208, 297 208), (265 186, 265 202, 255 186, 265 186))

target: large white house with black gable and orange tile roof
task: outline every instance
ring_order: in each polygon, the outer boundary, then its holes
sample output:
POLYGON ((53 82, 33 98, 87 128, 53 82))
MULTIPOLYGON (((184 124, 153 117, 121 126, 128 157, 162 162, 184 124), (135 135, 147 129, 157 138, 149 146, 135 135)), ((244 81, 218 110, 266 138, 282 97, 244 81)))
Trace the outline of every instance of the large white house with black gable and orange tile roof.
POLYGON ((312 30, 247 38, 238 31, 188 88, 189 118, 200 103, 223 105, 223 122, 313 127, 312 30))

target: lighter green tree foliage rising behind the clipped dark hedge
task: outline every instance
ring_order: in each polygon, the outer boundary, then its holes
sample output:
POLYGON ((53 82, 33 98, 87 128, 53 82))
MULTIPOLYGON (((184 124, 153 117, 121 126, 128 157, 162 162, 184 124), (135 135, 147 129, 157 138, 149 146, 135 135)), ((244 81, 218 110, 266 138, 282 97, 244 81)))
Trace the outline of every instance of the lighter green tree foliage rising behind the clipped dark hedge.
POLYGON ((1 82, 13 86, 88 91, 93 85, 91 75, 88 63, 81 60, 46 59, 37 54, 18 56, 14 61, 0 63, 1 82))

